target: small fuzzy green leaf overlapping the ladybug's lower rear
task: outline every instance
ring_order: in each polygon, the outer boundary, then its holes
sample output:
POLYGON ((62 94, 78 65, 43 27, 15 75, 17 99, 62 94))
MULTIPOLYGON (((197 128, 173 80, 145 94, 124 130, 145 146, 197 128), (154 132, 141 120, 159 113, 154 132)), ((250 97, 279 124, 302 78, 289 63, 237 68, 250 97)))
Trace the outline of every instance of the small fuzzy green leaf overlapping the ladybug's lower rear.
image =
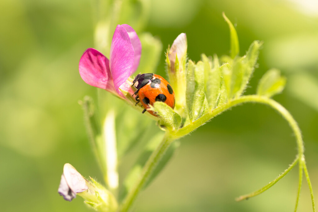
POLYGON ((176 113, 171 107, 164 102, 155 102, 154 111, 156 111, 160 118, 169 126, 177 129, 182 121, 181 116, 176 113))

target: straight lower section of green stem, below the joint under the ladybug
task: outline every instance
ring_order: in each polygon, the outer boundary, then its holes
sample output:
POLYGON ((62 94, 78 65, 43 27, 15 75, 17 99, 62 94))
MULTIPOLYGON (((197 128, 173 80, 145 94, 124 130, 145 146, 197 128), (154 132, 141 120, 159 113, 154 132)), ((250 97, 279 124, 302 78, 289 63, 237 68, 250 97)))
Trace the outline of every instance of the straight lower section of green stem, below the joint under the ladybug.
POLYGON ((119 211, 126 212, 130 209, 132 204, 135 202, 135 199, 139 192, 142 190, 143 186, 147 183, 150 175, 156 168, 157 164, 161 160, 162 156, 170 146, 173 139, 168 136, 168 133, 165 134, 161 143, 156 148, 156 150, 150 155, 148 161, 142 169, 141 177, 135 183, 134 187, 130 189, 128 195, 126 196, 123 204, 121 205, 119 211))

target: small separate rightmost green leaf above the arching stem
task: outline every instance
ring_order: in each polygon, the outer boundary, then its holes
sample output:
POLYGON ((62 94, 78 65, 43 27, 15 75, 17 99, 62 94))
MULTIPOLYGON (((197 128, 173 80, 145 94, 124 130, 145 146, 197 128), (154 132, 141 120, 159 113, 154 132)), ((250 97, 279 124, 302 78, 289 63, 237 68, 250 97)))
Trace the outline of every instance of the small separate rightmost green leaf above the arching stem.
POLYGON ((284 90, 286 78, 280 76, 280 70, 270 69, 259 80, 257 94, 272 97, 284 90))

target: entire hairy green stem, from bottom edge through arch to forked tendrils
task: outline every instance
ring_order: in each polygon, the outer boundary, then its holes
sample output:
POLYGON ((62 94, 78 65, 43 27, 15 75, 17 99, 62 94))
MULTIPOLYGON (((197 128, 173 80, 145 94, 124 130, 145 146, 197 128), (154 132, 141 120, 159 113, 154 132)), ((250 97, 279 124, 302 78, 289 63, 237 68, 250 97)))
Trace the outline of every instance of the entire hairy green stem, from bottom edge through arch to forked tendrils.
MULTIPOLYGON (((153 170, 156 168, 156 165, 164 155, 165 151, 168 149, 170 143, 173 140, 176 140, 178 138, 181 138, 193 130, 197 129, 201 125, 203 125, 205 122, 211 120, 213 117, 217 116, 218 114, 228 110, 229 108, 233 106, 237 106, 242 103, 247 103, 247 102, 254 102, 254 103, 262 103, 268 106, 271 106, 273 109, 277 110, 289 123, 290 127, 292 128, 295 136, 296 136, 296 141, 297 141, 297 157, 294 160, 294 162, 285 170, 284 173, 282 173, 279 177, 277 177, 274 181, 266 185, 265 187, 261 188, 260 190, 253 192, 252 196, 258 195, 271 186, 273 186, 277 181, 279 181, 283 176, 285 176, 299 161, 300 162, 300 172, 302 172, 302 168, 305 169, 305 174, 306 178, 308 181, 310 193, 311 193, 311 199, 312 199, 312 204, 313 204, 313 209, 315 211, 315 206, 314 206, 314 197, 313 197, 313 192, 311 188, 311 183, 309 180, 307 168, 305 168, 305 159, 304 159, 304 145, 303 145, 303 140, 301 137, 301 131, 292 117, 292 115, 283 107, 281 106, 278 102, 274 101, 273 99, 269 99, 264 96, 259 96, 259 95, 248 95, 248 96, 242 96, 237 99, 232 99, 228 101, 226 104, 219 106, 215 108, 214 110, 211 111, 211 113, 207 113, 201 118, 193 121, 189 125, 175 131, 170 131, 167 132, 165 137, 163 138, 161 144, 156 148, 156 150, 151 154, 150 158, 148 159, 146 165, 143 168, 141 178, 136 182, 135 186, 129 191, 125 201, 123 202, 121 208, 119 211, 121 212, 126 212, 130 209, 132 206, 133 202, 135 201, 138 193, 141 191, 145 183, 147 182, 150 174, 153 172, 153 170)), ((300 175, 301 177, 301 175, 300 175)), ((301 181, 301 178, 300 178, 301 181)), ((298 188, 298 194, 297 194, 297 203, 296 207, 298 204, 298 199, 299 199, 299 193, 300 193, 300 188, 301 188, 301 182, 299 183, 299 188, 298 188)), ((245 195, 246 196, 246 195, 245 195)), ((243 198, 244 199, 244 198, 243 198)), ((246 199, 246 198, 245 198, 246 199)))

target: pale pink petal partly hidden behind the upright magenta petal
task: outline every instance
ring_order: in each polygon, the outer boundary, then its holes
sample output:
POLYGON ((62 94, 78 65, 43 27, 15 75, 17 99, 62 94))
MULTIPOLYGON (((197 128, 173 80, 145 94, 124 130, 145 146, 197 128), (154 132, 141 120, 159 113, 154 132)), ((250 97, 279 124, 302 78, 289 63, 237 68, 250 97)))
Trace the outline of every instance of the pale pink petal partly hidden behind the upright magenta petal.
POLYGON ((133 45, 134 52, 135 52, 134 65, 131 70, 131 74, 132 74, 137 70, 139 65, 139 61, 141 57, 141 49, 142 49, 141 42, 138 38, 137 33, 131 26, 129 26, 128 24, 122 24, 121 26, 123 26, 127 30, 128 36, 130 38, 131 44, 133 45))

